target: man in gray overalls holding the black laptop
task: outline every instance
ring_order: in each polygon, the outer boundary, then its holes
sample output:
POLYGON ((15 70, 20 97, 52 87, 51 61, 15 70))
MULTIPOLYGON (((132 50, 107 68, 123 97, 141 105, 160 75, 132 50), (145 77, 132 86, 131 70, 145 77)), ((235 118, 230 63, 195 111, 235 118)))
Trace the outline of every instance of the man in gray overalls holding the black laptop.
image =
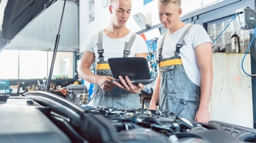
POLYGON ((144 84, 134 85, 125 77, 121 77, 122 84, 118 84, 112 77, 107 60, 115 57, 144 57, 147 59, 147 44, 141 36, 133 33, 126 26, 132 10, 132 0, 111 0, 109 4, 109 25, 97 33, 92 34, 86 41, 86 50, 80 60, 81 78, 94 84, 92 106, 115 108, 141 107, 138 93, 144 84), (129 41, 132 37, 133 41, 129 41), (129 54, 124 54, 129 42, 132 47, 129 54), (94 65, 96 73, 90 68, 94 65), (112 82, 113 81, 113 82, 112 82))

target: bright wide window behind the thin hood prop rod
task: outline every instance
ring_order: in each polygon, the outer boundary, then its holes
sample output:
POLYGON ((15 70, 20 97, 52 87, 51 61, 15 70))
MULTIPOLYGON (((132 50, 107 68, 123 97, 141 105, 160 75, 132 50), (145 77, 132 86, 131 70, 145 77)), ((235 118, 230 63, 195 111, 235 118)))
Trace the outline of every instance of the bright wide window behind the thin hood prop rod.
MULTIPOLYGON (((48 78, 53 52, 3 50, 0 53, 0 79, 48 78)), ((52 79, 73 79, 73 52, 57 52, 52 79)))

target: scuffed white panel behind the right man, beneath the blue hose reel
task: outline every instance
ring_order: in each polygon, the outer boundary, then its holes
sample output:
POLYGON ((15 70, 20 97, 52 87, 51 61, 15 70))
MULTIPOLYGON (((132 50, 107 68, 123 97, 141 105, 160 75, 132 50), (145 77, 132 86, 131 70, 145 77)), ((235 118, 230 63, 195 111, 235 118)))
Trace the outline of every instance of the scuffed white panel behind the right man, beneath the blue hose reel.
MULTIPOLYGON (((244 53, 214 53, 211 119, 253 127, 252 78, 241 68, 244 53)), ((250 55, 243 68, 251 73, 250 55)))

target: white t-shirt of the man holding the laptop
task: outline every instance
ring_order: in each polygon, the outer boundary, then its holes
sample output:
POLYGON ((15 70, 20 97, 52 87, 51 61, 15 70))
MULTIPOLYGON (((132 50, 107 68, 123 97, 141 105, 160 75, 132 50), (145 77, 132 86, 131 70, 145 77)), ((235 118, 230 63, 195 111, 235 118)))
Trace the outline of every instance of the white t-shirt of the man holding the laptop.
MULTIPOLYGON (((90 36, 86 41, 86 50, 95 53, 95 61, 99 61, 99 54, 97 53, 98 33, 99 32, 92 34, 92 36, 90 36)), ((104 61, 107 61, 109 58, 123 57, 125 41, 128 42, 131 36, 132 32, 130 31, 127 36, 120 39, 111 39, 109 36, 106 36, 106 33, 104 32, 102 41, 104 61)), ((129 57, 135 56, 135 53, 147 52, 147 44, 144 39, 139 35, 136 36, 129 53, 129 57)))

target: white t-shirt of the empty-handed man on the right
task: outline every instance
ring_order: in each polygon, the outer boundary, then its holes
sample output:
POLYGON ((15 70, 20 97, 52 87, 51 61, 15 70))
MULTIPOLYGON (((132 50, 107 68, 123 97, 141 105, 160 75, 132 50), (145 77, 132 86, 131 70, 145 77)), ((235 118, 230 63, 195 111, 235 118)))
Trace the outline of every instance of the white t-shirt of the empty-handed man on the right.
MULTIPOLYGON (((176 50, 176 44, 179 41, 182 34, 185 32, 189 24, 186 24, 185 27, 182 27, 181 29, 177 30, 175 33, 171 33, 166 35, 164 39, 164 45, 161 52, 162 59, 170 58, 171 56, 174 56, 174 51, 176 50)), ((159 40, 157 42, 157 59, 159 58, 159 48, 161 47, 161 41, 164 37, 165 33, 159 37, 159 40)), ((185 45, 182 46, 180 49, 180 54, 182 58, 182 64, 185 68, 185 72, 188 75, 188 78, 191 79, 191 81, 196 84, 200 85, 200 71, 199 67, 196 61, 196 53, 193 48, 198 46, 199 44, 203 44, 206 42, 211 42, 210 37, 208 36, 208 33, 205 31, 205 29, 199 25, 194 24, 193 27, 191 27, 191 30, 187 33, 187 35, 184 38, 185 45)))

